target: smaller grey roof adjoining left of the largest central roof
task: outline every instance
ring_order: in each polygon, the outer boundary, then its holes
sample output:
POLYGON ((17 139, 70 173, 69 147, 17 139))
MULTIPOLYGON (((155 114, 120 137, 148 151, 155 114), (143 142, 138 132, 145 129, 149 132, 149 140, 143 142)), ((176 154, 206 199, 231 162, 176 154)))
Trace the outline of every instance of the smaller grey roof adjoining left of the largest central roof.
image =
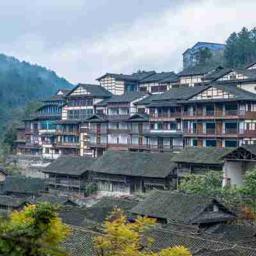
POLYGON ((82 175, 95 162, 93 157, 62 156, 53 161, 42 172, 69 175, 82 175))

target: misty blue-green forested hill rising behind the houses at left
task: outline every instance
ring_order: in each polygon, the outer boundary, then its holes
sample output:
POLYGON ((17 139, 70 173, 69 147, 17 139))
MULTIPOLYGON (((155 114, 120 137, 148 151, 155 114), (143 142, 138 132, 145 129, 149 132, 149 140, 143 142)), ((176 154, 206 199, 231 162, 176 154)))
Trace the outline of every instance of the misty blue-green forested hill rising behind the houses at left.
POLYGON ((0 54, 0 130, 22 116, 28 102, 50 97, 60 88, 71 88, 63 77, 38 65, 0 54))

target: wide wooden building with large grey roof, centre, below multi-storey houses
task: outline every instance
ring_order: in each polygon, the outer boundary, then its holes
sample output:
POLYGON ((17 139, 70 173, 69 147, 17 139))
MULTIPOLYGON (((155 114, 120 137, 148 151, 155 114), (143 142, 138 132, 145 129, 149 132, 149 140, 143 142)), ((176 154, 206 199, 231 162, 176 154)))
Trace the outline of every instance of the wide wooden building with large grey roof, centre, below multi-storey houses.
POLYGON ((90 167, 90 180, 102 195, 148 193, 175 188, 176 164, 170 154, 108 150, 90 167))

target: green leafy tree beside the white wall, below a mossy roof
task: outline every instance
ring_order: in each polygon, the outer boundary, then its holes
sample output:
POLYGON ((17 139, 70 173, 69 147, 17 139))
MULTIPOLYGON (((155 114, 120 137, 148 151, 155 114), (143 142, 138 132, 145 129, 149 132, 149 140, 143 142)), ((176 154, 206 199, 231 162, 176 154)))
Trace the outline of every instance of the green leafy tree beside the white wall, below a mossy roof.
POLYGON ((221 191, 221 173, 209 171, 204 175, 191 174, 182 179, 179 190, 193 195, 217 195, 221 191))

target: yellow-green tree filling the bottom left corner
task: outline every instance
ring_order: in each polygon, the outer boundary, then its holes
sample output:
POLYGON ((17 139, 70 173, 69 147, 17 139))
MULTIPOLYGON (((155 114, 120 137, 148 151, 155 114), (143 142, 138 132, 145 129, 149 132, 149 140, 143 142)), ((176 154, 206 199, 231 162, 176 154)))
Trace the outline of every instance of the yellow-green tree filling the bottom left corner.
POLYGON ((70 230, 61 224, 58 206, 41 203, 10 213, 0 221, 0 255, 60 256, 60 244, 70 230))

